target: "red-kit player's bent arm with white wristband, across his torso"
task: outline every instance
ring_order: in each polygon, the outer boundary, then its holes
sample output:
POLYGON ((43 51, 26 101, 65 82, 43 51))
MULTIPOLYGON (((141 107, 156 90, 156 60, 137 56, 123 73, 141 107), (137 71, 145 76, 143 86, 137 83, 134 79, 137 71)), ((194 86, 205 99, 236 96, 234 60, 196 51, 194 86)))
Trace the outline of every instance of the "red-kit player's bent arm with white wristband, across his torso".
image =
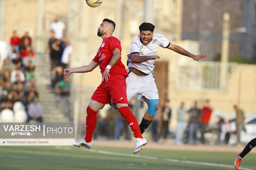
POLYGON ((108 80, 108 76, 110 77, 110 74, 109 74, 110 68, 113 67, 114 64, 116 64, 121 58, 121 51, 117 47, 114 48, 112 53, 113 53, 113 56, 112 56, 110 62, 108 63, 104 73, 102 74, 102 81, 104 81, 104 79, 106 81, 108 80))

